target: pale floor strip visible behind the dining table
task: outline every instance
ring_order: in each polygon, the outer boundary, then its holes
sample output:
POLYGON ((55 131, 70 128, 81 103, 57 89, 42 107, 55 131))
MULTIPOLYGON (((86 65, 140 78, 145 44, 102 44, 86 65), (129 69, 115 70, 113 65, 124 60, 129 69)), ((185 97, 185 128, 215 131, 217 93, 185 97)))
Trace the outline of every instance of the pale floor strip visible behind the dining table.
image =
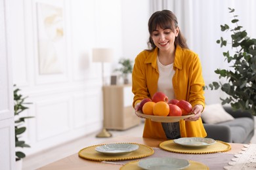
MULTIPOLYGON (((256 121, 256 118, 255 118, 255 121, 256 121)), ((143 127, 144 127, 144 124, 142 123, 139 126, 132 127, 131 129, 127 129, 125 131, 110 131, 110 133, 112 133, 112 137, 117 137, 121 135, 142 137, 143 127)), ((75 154, 82 148, 95 145, 95 144, 104 143, 104 141, 107 141, 109 139, 109 138, 97 138, 96 137, 97 133, 93 133, 91 135, 81 137, 80 139, 75 139, 75 141, 62 144, 56 148, 45 150, 44 152, 40 152, 40 154, 37 154, 37 155, 27 156, 23 161, 22 169, 23 170, 37 169, 53 161, 60 160, 62 158, 65 158, 66 156, 75 154)), ((253 139, 251 139, 251 143, 256 144, 256 134, 254 135, 253 139)))

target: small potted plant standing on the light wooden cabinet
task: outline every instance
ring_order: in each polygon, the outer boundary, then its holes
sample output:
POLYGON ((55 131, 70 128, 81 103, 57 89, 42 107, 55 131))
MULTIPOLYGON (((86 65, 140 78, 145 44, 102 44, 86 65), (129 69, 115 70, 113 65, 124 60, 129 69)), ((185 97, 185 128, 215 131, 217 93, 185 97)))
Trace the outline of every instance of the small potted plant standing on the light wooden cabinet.
POLYGON ((121 64, 121 67, 115 71, 120 71, 123 76, 123 83, 129 84, 128 75, 129 73, 133 73, 133 61, 130 59, 121 58, 119 59, 118 63, 121 64))

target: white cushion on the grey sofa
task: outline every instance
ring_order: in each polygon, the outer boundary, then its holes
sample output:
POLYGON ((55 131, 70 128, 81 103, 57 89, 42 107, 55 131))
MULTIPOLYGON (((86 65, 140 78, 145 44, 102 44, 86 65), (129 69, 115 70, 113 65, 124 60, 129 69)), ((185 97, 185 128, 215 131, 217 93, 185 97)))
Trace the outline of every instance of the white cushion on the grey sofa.
POLYGON ((234 120, 234 117, 228 114, 220 103, 205 105, 201 117, 206 124, 217 124, 234 120))

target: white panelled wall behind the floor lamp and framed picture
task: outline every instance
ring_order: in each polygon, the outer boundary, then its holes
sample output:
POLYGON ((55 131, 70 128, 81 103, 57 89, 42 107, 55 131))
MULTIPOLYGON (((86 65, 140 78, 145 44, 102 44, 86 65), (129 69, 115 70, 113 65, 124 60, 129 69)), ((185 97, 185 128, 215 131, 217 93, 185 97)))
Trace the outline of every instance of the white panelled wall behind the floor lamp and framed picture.
POLYGON ((105 76, 112 74, 119 58, 134 59, 146 48, 148 2, 14 2, 10 18, 13 79, 22 94, 29 96, 27 101, 33 103, 23 114, 35 116, 26 123, 28 131, 23 136, 32 146, 25 149, 30 156, 102 128, 101 67, 100 63, 92 62, 91 50, 114 48, 114 63, 104 65, 105 76), (38 27, 37 5, 40 3, 63 11, 60 73, 39 73, 38 36, 39 29, 43 28, 38 27), (139 21, 133 22, 135 18, 139 21))

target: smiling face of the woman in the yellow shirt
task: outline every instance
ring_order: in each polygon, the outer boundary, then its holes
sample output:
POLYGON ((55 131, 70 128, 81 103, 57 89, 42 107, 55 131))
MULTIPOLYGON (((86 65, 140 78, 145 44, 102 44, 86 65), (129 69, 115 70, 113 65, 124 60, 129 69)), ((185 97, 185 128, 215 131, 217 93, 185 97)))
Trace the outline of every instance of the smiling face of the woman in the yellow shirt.
POLYGON ((171 29, 162 29, 161 27, 156 27, 156 30, 152 33, 152 40, 154 44, 160 50, 171 50, 174 48, 175 37, 179 34, 179 28, 175 29, 175 32, 171 29))

